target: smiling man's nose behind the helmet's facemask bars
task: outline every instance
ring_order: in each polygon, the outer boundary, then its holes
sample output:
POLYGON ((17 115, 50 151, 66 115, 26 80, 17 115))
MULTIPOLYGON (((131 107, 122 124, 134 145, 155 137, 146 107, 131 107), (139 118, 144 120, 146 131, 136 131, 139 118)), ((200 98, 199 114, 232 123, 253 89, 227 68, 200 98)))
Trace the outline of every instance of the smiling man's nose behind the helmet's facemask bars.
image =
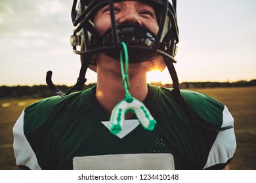
POLYGON ((135 10, 126 10, 117 20, 118 24, 142 25, 139 14, 135 10))

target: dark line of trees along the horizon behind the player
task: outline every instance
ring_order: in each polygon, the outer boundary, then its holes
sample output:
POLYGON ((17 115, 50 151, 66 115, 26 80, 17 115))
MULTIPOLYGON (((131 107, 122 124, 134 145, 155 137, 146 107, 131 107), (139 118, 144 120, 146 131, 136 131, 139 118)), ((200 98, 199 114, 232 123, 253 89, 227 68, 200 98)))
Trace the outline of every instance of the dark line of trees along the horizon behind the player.
MULTIPOLYGON (((151 84, 172 88, 172 84, 161 84, 161 82, 152 82, 151 84)), ((86 84, 83 90, 91 88, 95 84, 86 84)), ((193 88, 224 88, 224 87, 251 87, 256 86, 256 80, 238 82, 182 82, 181 89, 193 88)), ((58 85, 56 86, 60 91, 67 91, 70 86, 58 85)), ((45 98, 51 97, 54 93, 51 92, 47 85, 34 86, 0 86, 0 98, 45 98)))

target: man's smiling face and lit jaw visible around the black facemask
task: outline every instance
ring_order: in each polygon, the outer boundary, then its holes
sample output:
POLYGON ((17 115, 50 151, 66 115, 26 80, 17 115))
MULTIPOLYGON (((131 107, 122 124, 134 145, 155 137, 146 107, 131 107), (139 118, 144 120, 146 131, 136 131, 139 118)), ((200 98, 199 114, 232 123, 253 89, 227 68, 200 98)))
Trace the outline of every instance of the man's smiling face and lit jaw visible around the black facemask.
MULTIPOLYGON (((156 20, 156 12, 154 8, 141 3, 139 1, 121 1, 118 3, 114 3, 114 11, 116 14, 116 24, 137 24, 143 27, 146 27, 154 33, 154 35, 158 34, 159 26, 156 20)), ((111 20, 110 20, 110 9, 109 6, 103 7, 95 15, 94 25, 96 31, 100 35, 104 35, 104 33, 111 28, 111 20)), ((101 56, 102 54, 98 54, 101 56)), ((100 62, 102 59, 97 59, 97 68, 100 67, 100 62)), ((116 64, 116 62, 114 62, 116 64)), ((165 68, 165 63, 161 56, 156 58, 152 58, 149 61, 137 63, 136 67, 138 69, 138 64, 140 64, 140 68, 144 68, 145 71, 159 70, 163 71, 165 68)), ((134 64, 132 64, 134 65, 134 64)), ((113 65, 107 64, 106 60, 103 61, 102 67, 110 67, 116 68, 113 65)), ((131 66, 131 65, 130 65, 131 66)), ((119 67, 119 66, 118 66, 119 67)), ((115 71, 115 69, 114 69, 115 71)))

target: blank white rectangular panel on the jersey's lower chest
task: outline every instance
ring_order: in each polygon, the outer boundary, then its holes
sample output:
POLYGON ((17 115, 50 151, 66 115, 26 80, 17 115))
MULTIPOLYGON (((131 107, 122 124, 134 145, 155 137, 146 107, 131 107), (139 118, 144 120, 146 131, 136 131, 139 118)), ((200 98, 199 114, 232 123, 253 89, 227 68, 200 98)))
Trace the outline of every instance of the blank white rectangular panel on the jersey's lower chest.
POLYGON ((174 170, 172 154, 107 154, 73 159, 75 170, 174 170))

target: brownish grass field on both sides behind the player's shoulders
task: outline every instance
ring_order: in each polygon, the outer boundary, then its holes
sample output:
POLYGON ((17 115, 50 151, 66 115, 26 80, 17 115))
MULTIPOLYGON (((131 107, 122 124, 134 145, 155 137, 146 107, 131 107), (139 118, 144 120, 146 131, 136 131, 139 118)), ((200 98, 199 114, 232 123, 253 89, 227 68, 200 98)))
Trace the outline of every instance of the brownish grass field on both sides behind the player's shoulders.
MULTIPOLYGON (((224 103, 235 120, 236 154, 230 169, 256 169, 256 87, 195 89, 224 103)), ((18 169, 12 150, 12 127, 22 110, 38 99, 0 99, 0 169, 18 169)))

